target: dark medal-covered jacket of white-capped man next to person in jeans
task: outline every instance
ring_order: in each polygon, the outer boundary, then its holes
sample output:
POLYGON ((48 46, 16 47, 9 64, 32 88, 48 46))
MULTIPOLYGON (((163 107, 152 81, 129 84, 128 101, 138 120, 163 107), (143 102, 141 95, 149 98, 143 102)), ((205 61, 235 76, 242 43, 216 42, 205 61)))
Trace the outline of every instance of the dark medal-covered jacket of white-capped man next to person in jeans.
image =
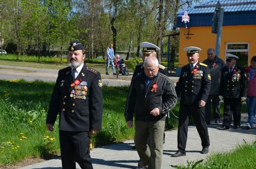
POLYGON ((235 65, 232 73, 229 73, 229 67, 223 69, 223 97, 224 98, 240 98, 246 97, 246 78, 245 69, 239 65, 235 65))

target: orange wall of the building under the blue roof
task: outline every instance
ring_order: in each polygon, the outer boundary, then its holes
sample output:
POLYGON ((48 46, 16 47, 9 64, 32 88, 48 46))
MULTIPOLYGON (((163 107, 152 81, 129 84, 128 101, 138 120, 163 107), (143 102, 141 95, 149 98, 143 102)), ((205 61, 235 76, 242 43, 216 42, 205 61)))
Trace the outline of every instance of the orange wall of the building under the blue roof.
MULTIPOLYGON (((180 28, 179 42, 179 66, 182 67, 188 64, 186 52, 183 50, 187 46, 200 47, 202 51, 199 53, 199 61, 202 62, 207 58, 207 49, 216 47, 217 34, 211 33, 211 27, 190 27, 189 34, 184 35, 185 28, 180 28), (186 39, 189 37, 189 39, 186 39)), ((187 30, 188 33, 188 30, 187 30)), ((252 56, 256 56, 256 25, 242 26, 223 26, 221 36, 220 58, 225 60, 225 44, 227 42, 248 42, 249 43, 249 58, 248 64, 252 56)))

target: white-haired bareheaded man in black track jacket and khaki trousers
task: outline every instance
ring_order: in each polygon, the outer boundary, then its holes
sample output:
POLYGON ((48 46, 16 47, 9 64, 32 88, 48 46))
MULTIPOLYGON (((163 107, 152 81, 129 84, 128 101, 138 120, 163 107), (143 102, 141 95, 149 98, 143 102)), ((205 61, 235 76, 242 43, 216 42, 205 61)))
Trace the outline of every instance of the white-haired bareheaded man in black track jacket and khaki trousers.
POLYGON ((146 58, 143 66, 144 72, 131 84, 124 116, 131 128, 135 114, 134 142, 144 168, 158 169, 162 161, 165 116, 176 105, 177 95, 173 82, 158 72, 157 58, 146 58))

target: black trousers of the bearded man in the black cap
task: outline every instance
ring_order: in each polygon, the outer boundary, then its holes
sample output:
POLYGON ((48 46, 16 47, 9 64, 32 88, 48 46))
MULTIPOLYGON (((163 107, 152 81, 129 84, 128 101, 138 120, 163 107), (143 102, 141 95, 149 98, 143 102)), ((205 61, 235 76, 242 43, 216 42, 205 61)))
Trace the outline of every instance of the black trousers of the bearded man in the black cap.
POLYGON ((90 156, 90 138, 87 131, 59 131, 61 163, 63 169, 93 169, 90 156))

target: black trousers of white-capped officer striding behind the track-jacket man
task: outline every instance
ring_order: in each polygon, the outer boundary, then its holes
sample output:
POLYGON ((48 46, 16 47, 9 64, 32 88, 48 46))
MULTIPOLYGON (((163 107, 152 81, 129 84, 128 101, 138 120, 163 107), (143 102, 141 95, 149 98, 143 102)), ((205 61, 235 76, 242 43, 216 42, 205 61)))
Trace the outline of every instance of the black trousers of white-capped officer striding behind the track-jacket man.
POLYGON ((207 124, 205 122, 204 107, 194 105, 180 105, 178 127, 178 149, 185 152, 187 143, 187 131, 190 115, 193 117, 197 131, 201 138, 203 148, 210 146, 207 124))

